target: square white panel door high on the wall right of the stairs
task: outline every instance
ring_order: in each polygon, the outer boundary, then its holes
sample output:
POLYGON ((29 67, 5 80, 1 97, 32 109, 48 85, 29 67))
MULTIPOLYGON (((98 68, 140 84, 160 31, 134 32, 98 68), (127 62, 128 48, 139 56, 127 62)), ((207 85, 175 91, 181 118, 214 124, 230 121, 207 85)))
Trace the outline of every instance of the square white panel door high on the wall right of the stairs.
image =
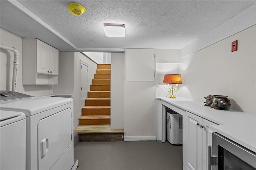
POLYGON ((154 49, 126 49, 126 81, 154 81, 154 49))

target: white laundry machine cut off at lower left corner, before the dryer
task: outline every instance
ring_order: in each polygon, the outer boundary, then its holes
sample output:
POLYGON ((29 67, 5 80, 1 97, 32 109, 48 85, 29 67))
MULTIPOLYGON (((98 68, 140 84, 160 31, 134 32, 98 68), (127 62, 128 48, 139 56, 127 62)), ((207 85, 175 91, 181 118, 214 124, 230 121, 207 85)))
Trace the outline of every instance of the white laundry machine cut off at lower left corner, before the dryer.
POLYGON ((16 111, 0 111, 0 169, 24 170, 26 117, 16 111))

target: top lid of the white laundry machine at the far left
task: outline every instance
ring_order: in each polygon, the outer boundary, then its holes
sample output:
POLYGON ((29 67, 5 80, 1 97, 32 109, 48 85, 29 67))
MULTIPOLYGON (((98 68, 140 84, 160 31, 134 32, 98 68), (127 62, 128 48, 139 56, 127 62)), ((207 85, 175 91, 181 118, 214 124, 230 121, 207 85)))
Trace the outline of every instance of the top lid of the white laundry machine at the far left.
POLYGON ((25 118, 26 118, 26 116, 22 112, 1 110, 0 127, 14 123, 16 121, 20 121, 25 118))

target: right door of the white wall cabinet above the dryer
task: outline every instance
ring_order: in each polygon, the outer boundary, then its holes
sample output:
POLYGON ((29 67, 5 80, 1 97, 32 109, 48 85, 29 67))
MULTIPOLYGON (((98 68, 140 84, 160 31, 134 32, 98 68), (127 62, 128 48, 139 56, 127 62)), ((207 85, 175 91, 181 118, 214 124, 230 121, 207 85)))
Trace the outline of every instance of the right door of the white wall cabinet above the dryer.
POLYGON ((50 56, 49 56, 49 70, 53 75, 59 74, 59 51, 53 47, 49 47, 50 56))

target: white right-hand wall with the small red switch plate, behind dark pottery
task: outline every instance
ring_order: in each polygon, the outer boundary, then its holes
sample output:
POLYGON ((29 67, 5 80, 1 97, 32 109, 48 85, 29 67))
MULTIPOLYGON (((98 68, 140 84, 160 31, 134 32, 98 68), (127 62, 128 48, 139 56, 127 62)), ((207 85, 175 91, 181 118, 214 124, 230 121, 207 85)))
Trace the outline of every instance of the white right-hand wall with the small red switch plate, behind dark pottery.
POLYGON ((209 94, 225 95, 232 109, 256 113, 256 26, 182 58, 179 96, 205 102, 209 94), (231 52, 231 42, 238 50, 231 52))

